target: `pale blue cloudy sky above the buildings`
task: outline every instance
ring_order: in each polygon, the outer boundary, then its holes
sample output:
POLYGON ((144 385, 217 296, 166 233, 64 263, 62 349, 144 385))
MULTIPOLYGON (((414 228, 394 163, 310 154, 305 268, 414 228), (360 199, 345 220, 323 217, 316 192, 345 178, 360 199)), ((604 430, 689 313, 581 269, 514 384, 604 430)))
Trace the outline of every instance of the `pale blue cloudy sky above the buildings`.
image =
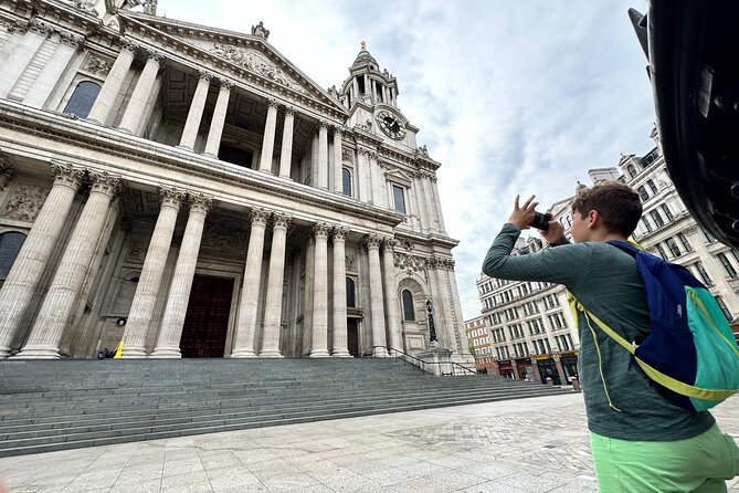
MULTIPOLYGON (((570 197, 588 169, 654 148, 646 59, 627 9, 644 0, 159 0, 157 14, 251 33, 328 88, 360 41, 399 84, 437 171, 465 321, 514 198, 539 209, 570 197)), ((526 234, 526 233, 525 233, 526 234)))

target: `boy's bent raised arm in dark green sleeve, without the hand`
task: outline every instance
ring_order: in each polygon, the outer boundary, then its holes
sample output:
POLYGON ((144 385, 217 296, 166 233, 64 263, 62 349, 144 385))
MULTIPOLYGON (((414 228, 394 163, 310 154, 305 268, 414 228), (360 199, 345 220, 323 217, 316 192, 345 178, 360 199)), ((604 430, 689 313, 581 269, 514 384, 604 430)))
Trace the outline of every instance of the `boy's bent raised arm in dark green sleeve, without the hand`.
POLYGON ((587 279, 591 249, 587 244, 558 243, 538 253, 510 256, 520 229, 507 223, 485 255, 483 272, 514 281, 545 281, 572 286, 587 279), (560 245, 561 244, 561 245, 560 245))

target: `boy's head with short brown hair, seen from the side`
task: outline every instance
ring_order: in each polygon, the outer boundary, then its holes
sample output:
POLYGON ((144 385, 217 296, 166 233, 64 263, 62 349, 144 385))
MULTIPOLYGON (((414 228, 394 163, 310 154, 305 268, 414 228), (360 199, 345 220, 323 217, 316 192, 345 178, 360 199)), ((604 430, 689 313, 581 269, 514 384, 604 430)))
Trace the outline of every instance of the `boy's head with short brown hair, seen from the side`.
POLYGON ((626 185, 602 181, 578 192, 572 200, 572 216, 576 242, 590 241, 595 231, 627 238, 642 218, 642 201, 626 185))

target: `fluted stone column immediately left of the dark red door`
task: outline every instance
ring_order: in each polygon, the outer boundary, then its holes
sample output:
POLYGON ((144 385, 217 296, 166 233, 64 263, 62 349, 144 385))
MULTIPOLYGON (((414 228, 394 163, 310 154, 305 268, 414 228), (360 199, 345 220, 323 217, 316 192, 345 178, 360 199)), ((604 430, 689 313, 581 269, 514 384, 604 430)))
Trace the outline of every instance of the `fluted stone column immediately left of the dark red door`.
POLYGON ((184 227, 184 235, 180 245, 180 254, 177 256, 172 284, 167 295, 167 306, 165 307, 157 346, 151 353, 152 358, 182 357, 180 353, 182 326, 184 325, 184 315, 188 312, 192 277, 198 264, 205 216, 212 206, 212 199, 202 193, 189 197, 190 216, 184 227))

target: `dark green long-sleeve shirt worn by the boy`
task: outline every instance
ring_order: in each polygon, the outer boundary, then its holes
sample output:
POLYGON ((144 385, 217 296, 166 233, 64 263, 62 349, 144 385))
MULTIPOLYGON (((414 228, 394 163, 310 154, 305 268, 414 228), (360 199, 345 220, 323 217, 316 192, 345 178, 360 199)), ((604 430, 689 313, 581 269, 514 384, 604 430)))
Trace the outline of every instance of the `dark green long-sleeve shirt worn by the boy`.
MULTIPOLYGON (((638 343, 648 333, 644 284, 629 253, 608 243, 585 242, 511 256, 519 234, 515 225, 503 227, 485 256, 485 274, 563 284, 626 340, 638 343)), ((578 318, 579 377, 590 431, 621 440, 674 441, 696 437, 714 424, 708 411, 689 412, 659 396, 632 355, 591 324, 601 352, 601 378, 592 333, 585 317, 578 318), (610 408, 603 381, 611 402, 621 412, 610 408)))

